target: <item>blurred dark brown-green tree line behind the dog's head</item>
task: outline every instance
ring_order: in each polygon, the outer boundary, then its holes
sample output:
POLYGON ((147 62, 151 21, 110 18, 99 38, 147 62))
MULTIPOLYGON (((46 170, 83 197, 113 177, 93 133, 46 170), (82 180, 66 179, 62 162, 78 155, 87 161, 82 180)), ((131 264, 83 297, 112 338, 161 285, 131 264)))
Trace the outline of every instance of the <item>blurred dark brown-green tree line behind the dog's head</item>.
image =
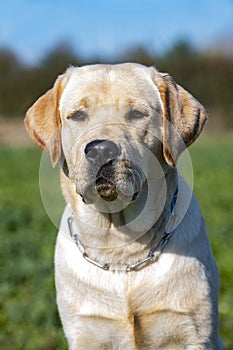
POLYGON ((0 48, 0 116, 23 116, 70 65, 121 62, 154 65, 162 72, 169 72, 207 108, 213 127, 233 128, 232 57, 200 52, 184 41, 160 55, 144 47, 134 47, 111 62, 101 58, 85 60, 63 43, 48 52, 36 66, 24 64, 13 50, 0 48))

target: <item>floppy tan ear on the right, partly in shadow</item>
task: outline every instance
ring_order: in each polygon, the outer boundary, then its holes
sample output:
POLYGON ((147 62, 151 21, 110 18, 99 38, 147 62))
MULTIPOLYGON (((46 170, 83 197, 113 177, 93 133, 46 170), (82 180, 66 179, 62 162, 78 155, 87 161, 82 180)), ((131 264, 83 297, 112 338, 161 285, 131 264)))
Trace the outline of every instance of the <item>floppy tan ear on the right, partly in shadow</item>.
POLYGON ((163 155, 175 166, 180 153, 201 133, 207 120, 204 107, 169 74, 160 74, 159 90, 163 103, 163 155))

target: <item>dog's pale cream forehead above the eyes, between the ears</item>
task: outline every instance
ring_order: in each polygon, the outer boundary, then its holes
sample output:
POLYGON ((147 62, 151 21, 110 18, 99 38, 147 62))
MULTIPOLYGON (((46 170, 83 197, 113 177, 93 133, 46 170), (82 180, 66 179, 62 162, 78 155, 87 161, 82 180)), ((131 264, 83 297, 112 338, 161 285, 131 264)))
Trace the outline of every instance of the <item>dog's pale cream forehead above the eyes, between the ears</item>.
POLYGON ((94 65, 74 68, 70 72, 60 101, 60 109, 75 110, 78 103, 94 105, 124 103, 145 99, 155 107, 159 105, 159 93, 151 78, 151 71, 138 64, 94 65))

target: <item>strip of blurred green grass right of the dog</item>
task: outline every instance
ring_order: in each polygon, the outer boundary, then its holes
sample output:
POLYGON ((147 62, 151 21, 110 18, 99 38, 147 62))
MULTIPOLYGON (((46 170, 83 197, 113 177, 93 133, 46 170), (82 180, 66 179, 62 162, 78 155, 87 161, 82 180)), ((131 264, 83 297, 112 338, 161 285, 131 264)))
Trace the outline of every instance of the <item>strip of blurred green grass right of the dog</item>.
POLYGON ((194 168, 194 193, 207 225, 220 271, 221 335, 226 349, 233 349, 233 141, 211 138, 197 142, 190 153, 194 168))

